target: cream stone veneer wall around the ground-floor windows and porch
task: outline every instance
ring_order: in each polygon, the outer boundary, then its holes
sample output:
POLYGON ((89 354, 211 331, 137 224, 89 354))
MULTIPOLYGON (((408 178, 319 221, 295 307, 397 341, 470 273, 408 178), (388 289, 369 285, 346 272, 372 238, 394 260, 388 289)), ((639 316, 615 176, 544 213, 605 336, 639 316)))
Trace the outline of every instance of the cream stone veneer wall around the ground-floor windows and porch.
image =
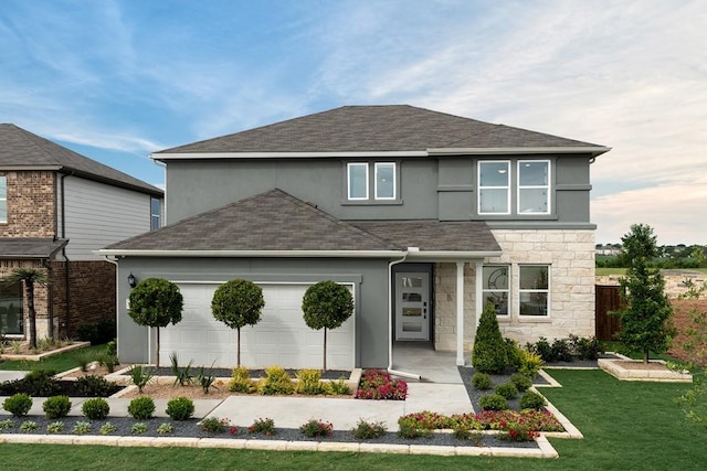
MULTIPOLYGON (((539 336, 594 335, 594 231, 494 229, 500 257, 484 264, 511 266, 510 317, 498 318, 504 336, 521 344, 539 336), (550 265, 550 315, 519 319, 518 265, 550 265)), ((464 267, 464 349, 476 333, 475 265, 464 267)), ((456 350, 456 265, 435 266, 435 349, 456 350)))

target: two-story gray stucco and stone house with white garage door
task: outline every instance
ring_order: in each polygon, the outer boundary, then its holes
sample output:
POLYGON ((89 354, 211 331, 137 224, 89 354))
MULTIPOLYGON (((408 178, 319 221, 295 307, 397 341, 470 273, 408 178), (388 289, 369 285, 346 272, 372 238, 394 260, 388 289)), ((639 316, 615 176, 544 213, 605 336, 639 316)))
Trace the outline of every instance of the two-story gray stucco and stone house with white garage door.
MULTIPOLYGON (((347 106, 154 153, 167 222, 99 253, 127 276, 167 278, 183 319, 161 354, 235 364, 236 335, 210 302, 234 278, 263 288, 242 363, 319 367, 302 320, 308 286, 351 289, 329 332, 330 367, 393 367, 398 342, 464 364, 484 304, 520 342, 594 334, 590 164, 609 148, 412 106, 347 106)), ((118 303, 119 355, 154 358, 154 333, 118 303)))

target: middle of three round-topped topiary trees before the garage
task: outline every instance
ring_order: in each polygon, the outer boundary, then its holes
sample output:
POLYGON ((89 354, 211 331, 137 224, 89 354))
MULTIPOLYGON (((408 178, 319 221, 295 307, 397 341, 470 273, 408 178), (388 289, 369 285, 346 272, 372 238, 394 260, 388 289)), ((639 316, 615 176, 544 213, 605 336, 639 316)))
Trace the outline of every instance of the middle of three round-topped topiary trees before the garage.
POLYGON ((239 367, 241 367, 241 328, 260 322, 263 307, 265 307, 263 290, 252 281, 241 279, 226 281, 213 293, 211 313, 214 319, 239 331, 239 367))

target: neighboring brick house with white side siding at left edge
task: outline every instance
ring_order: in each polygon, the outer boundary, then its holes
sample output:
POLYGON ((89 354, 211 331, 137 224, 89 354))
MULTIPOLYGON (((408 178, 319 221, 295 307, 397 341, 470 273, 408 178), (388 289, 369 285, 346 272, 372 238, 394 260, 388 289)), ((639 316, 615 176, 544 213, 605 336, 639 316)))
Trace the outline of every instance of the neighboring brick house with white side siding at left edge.
MULTIPOLYGON (((163 192, 10 124, 0 124, 0 279, 46 270, 35 286, 38 339, 115 319, 115 265, 93 250, 160 226, 163 192)), ((20 283, 0 281, 0 334, 29 332, 20 283)))

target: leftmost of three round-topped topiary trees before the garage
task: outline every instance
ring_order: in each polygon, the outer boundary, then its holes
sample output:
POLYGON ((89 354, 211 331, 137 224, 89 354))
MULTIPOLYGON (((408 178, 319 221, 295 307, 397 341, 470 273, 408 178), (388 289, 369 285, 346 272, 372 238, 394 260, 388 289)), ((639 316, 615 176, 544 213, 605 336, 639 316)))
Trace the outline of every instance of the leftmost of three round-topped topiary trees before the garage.
POLYGON ((128 314, 138 325, 157 328, 157 357, 159 367, 159 328, 181 321, 184 299, 179 287, 162 278, 146 278, 130 291, 128 314))

